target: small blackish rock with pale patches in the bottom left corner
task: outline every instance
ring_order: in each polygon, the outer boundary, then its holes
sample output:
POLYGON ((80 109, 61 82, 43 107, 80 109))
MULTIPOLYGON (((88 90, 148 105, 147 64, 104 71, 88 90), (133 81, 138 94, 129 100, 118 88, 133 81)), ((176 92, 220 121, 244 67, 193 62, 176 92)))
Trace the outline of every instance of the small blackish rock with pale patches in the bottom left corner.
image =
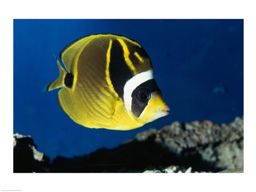
POLYGON ((36 149, 30 136, 13 134, 13 172, 52 172, 50 158, 36 149))

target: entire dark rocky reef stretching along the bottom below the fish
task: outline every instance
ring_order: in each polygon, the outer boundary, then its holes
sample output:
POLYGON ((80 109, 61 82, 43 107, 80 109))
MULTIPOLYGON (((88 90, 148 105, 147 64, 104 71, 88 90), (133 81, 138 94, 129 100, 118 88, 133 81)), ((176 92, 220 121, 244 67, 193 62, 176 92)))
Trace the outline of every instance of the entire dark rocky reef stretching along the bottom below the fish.
POLYGON ((173 122, 113 149, 50 159, 29 136, 14 134, 14 172, 243 172, 243 118, 229 124, 173 122))

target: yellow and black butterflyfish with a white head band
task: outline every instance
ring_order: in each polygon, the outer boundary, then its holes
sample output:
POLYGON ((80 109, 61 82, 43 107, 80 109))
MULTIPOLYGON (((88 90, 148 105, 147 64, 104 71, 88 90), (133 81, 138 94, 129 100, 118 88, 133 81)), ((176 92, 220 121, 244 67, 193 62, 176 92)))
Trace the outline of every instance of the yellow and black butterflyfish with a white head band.
POLYGON ((131 130, 166 116, 146 51, 117 35, 90 35, 60 52, 60 75, 47 91, 61 88, 60 107, 79 125, 131 130))

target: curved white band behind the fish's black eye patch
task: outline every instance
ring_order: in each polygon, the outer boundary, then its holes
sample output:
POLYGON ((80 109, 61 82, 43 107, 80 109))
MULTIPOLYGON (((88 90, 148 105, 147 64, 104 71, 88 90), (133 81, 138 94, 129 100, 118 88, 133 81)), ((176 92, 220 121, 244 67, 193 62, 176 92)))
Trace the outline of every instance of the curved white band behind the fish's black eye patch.
POLYGON ((124 105, 129 115, 130 115, 129 110, 131 110, 132 108, 132 92, 141 83, 144 83, 153 78, 154 78, 153 71, 148 70, 138 75, 135 75, 129 81, 127 81, 126 84, 124 85, 124 105))

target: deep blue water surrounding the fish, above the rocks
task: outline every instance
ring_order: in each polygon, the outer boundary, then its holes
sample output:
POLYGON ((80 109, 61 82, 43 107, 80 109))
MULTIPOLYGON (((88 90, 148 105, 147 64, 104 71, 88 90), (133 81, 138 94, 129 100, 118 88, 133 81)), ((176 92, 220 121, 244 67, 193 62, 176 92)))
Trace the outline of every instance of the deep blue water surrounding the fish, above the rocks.
POLYGON ((151 127, 243 116, 243 20, 14 20, 14 133, 31 135, 51 159, 113 148, 151 127), (170 115, 131 131, 87 129, 45 92, 53 54, 91 34, 134 39, 149 54, 170 115))

